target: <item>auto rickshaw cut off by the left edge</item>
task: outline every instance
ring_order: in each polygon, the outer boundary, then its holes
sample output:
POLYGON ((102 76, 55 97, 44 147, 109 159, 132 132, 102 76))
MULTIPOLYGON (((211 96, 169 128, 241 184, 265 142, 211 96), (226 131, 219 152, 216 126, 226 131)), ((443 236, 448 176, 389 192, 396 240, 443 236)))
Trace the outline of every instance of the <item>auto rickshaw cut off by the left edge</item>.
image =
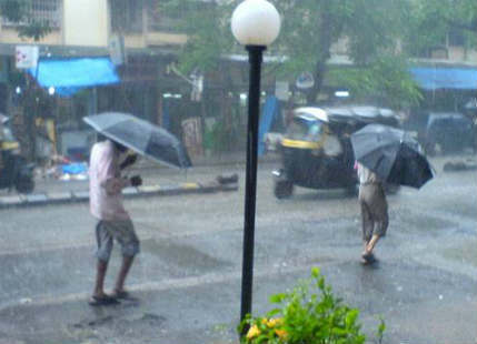
POLYGON ((27 163, 20 155, 20 143, 9 125, 9 118, 0 114, 0 189, 14 188, 20 193, 31 193, 34 189, 34 164, 27 163))

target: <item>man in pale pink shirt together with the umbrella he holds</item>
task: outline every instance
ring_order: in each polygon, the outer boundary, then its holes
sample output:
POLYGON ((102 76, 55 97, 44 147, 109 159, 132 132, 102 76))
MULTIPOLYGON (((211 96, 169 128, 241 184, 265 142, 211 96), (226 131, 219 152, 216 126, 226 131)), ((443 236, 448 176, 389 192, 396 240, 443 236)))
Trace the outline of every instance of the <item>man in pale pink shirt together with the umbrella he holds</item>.
POLYGON ((93 145, 90 162, 90 208, 91 214, 99 221, 98 271, 90 303, 98 305, 115 303, 116 299, 128 296, 125 281, 135 255, 139 252, 132 222, 122 206, 121 190, 129 185, 138 186, 142 184, 142 180, 139 175, 129 180, 121 178, 121 170, 135 163, 136 158, 127 158, 120 163, 119 155, 130 149, 172 168, 187 169, 192 164, 182 143, 175 135, 132 114, 103 112, 86 117, 83 121, 108 138, 93 145), (113 239, 122 247, 122 265, 113 294, 109 296, 103 291, 103 282, 113 239))

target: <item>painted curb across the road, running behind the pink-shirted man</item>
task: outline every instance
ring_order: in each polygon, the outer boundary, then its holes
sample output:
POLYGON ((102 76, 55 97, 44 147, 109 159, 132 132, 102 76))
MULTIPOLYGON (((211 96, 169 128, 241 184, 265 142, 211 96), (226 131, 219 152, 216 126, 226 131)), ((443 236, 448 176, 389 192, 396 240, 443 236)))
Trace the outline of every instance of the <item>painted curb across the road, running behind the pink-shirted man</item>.
MULTIPOLYGON (((127 188, 122 190, 125 199, 145 196, 167 196, 193 193, 215 193, 237 191, 238 183, 220 184, 210 183, 183 183, 179 185, 145 185, 127 188)), ((10 208, 42 206, 50 204, 81 203, 89 201, 89 191, 68 191, 57 193, 16 194, 0 196, 0 210, 10 208)))

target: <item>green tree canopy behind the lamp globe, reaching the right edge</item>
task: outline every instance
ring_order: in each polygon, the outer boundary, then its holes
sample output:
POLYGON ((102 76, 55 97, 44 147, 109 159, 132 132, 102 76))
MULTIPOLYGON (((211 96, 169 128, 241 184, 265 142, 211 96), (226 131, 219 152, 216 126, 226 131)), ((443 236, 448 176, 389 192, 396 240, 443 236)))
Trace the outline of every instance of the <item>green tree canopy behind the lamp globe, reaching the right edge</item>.
MULTIPOLYGON (((360 98, 372 98, 395 108, 421 98, 409 74, 409 57, 444 42, 453 30, 475 44, 475 0, 275 0, 280 12, 280 36, 268 52, 287 57, 275 69, 295 80, 310 72, 315 84, 307 99, 315 102, 324 84, 348 88, 360 98), (346 47, 352 68, 330 63, 338 44, 346 47)), ((239 1, 168 0, 160 11, 181 18, 189 36, 180 53, 183 70, 205 71, 223 53, 244 52, 230 33, 230 17, 239 1)))

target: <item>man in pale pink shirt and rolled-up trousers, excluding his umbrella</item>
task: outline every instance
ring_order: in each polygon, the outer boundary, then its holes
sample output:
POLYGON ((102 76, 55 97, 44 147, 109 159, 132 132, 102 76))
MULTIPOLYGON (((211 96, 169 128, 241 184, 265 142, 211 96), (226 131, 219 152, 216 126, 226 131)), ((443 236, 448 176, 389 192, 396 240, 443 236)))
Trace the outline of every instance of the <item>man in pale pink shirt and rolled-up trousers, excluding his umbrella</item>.
POLYGON ((90 158, 90 211, 98 220, 96 226, 97 274, 90 305, 117 303, 126 299, 125 281, 136 254, 139 253, 139 240, 128 212, 122 205, 122 189, 142 184, 139 175, 130 179, 121 176, 121 170, 133 164, 137 155, 128 155, 120 163, 127 148, 110 139, 97 142, 90 158), (111 295, 105 293, 103 284, 113 240, 121 245, 122 264, 111 295))

